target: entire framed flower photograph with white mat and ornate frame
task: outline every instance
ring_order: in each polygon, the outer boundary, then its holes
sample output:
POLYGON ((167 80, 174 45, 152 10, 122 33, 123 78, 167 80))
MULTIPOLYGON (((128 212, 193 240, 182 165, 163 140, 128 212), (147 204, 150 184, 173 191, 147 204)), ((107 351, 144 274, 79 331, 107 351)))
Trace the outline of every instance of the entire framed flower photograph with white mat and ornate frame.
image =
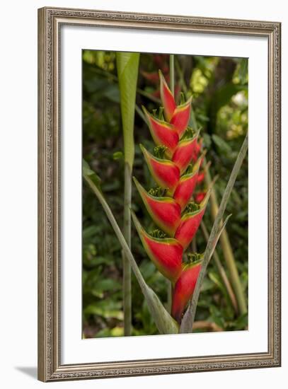
POLYGON ((280 23, 40 8, 38 378, 280 366, 280 23))

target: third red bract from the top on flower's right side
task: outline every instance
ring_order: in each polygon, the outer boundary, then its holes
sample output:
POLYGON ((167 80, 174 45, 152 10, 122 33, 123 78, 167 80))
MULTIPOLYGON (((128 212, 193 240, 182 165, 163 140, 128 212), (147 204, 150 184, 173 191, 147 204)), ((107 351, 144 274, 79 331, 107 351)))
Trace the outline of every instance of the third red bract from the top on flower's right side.
POLYGON ((176 187, 176 190, 173 195, 173 199, 180 204, 181 210, 186 207, 188 202, 192 197, 193 191, 197 184, 198 170, 200 163, 202 161, 202 156, 198 159, 197 163, 193 167, 192 173, 183 175, 176 187))

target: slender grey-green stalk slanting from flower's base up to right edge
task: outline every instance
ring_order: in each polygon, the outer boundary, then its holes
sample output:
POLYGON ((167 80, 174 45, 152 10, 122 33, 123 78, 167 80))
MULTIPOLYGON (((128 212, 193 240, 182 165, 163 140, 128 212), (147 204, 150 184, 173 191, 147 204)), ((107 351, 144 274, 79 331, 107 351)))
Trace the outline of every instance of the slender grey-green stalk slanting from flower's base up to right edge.
POLYGON ((241 146, 241 150, 238 153, 236 162, 234 163, 234 168, 231 172, 229 181, 227 183, 226 189, 225 189, 223 197, 221 199, 219 211, 218 211, 216 219, 214 221, 212 231, 210 233, 207 247, 205 250, 200 274, 199 274, 199 277, 197 279, 194 293, 192 295, 192 301, 190 301, 188 309, 186 310, 185 315, 184 315, 183 320, 182 320, 182 323, 180 325, 180 332, 181 333, 192 332, 192 325, 193 325, 194 320, 195 320, 197 302, 198 302, 200 290, 201 290, 201 287, 202 287, 202 284, 203 284, 203 281, 205 278, 206 269, 207 269, 207 266, 209 264, 209 260, 211 259, 212 254, 214 252, 214 249, 217 245, 217 241, 218 241, 219 237, 221 236, 221 231, 223 231, 225 228, 225 224, 226 224, 227 219, 224 223, 222 223, 221 220, 224 216, 224 211, 226 209, 229 197, 230 197, 231 192, 233 190, 237 175, 238 175, 239 170, 242 166, 243 160, 246 156, 247 150, 248 150, 248 134, 246 134, 246 137, 245 137, 243 144, 241 146))

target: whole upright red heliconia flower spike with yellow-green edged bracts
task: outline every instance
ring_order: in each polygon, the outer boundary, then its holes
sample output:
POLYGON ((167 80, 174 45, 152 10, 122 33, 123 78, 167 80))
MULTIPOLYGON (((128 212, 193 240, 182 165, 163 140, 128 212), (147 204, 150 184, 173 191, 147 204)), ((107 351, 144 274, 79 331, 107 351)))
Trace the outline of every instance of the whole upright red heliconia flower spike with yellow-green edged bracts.
MULTIPOLYGON (((174 286, 171 314, 180 323, 201 267, 198 262, 183 264, 183 252, 200 226, 211 190, 201 198, 199 205, 191 202, 195 185, 204 177, 203 173, 199 173, 204 157, 204 153, 199 157, 202 140, 198 142, 199 132, 188 127, 191 98, 177 106, 161 71, 159 77, 165 120, 159 120, 143 108, 151 136, 159 146, 155 149, 157 156, 140 146, 159 187, 146 192, 137 180, 134 181, 147 211, 163 232, 157 230, 153 236, 149 235, 133 213, 132 216, 147 255, 174 286), (164 153, 165 158, 160 158, 164 153), (165 236, 164 233, 169 238, 158 238, 165 236)), ((162 113, 159 113, 161 116, 162 113)))

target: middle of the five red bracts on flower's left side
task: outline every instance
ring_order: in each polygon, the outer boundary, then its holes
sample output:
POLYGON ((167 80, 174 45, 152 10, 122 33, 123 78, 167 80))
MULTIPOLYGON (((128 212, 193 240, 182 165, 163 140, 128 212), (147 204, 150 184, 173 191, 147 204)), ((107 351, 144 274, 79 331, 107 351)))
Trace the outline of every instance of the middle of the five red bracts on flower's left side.
POLYGON ((173 194, 180 179, 178 166, 168 159, 160 159, 152 156, 144 146, 140 144, 147 166, 156 183, 163 189, 168 189, 168 194, 173 194))

